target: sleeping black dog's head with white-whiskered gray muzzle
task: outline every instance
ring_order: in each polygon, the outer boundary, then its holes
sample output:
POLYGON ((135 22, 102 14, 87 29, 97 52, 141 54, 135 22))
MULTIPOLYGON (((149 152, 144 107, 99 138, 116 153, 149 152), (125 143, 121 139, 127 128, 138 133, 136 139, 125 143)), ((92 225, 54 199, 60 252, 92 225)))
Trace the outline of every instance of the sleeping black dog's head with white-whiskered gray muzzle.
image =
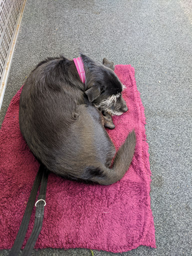
POLYGON ((124 88, 112 71, 113 62, 103 58, 103 64, 80 53, 85 75, 85 91, 88 100, 103 112, 120 115, 128 110, 121 92, 124 88))

